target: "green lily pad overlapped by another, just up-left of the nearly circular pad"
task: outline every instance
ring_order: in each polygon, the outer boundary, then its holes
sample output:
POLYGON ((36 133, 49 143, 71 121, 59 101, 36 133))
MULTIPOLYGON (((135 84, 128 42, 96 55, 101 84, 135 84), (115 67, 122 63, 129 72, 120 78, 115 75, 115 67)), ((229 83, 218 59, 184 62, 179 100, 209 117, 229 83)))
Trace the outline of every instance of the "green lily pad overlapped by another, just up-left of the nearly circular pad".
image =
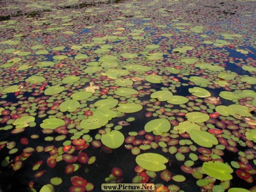
POLYGON ((89 116, 87 119, 83 119, 80 123, 80 126, 83 129, 87 130, 93 130, 93 129, 98 129, 108 123, 107 120, 100 120, 97 119, 93 116, 89 116))

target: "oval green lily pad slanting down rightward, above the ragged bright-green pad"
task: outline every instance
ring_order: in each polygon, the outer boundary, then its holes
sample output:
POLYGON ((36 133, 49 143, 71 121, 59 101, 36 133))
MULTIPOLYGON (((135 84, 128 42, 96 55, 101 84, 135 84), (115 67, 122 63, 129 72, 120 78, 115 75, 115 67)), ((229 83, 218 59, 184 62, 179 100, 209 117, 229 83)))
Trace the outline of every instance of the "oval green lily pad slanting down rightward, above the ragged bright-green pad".
POLYGON ((189 132, 190 138, 202 147, 212 147, 218 145, 218 140, 209 132, 201 130, 191 130, 189 132))

